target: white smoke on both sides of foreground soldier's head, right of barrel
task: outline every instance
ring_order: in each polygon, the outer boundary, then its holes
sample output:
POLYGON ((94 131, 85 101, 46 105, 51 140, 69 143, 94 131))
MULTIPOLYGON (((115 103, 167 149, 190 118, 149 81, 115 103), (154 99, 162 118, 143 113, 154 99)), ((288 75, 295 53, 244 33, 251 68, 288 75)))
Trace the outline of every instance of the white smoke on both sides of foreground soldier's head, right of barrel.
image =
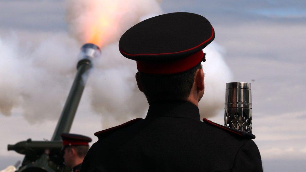
MULTIPOLYGON (((225 85, 232 81, 232 74, 222 57, 222 47, 212 43, 203 50, 207 61, 205 93, 199 102, 200 116, 211 117, 224 109, 225 85)), ((136 62, 124 58, 118 50, 118 42, 102 49, 87 86, 92 87, 92 107, 103 115, 103 127, 145 117, 149 107, 146 98, 138 90, 135 80, 136 62)))

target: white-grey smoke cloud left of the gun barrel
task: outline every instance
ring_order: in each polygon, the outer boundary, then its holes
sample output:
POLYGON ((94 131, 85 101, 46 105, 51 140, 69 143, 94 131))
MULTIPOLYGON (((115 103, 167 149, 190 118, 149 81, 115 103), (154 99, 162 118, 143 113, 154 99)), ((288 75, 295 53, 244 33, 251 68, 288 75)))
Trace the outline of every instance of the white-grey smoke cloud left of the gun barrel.
POLYGON ((74 75, 76 47, 66 34, 27 48, 16 36, 0 38, 0 112, 21 108, 29 122, 56 119, 74 75))

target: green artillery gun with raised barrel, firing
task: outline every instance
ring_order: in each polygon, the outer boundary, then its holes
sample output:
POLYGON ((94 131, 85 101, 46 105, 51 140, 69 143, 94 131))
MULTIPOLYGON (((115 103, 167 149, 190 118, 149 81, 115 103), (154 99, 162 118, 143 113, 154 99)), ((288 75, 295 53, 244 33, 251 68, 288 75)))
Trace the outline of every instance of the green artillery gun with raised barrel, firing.
POLYGON ((92 60, 101 55, 101 50, 95 44, 84 44, 79 54, 77 74, 62 110, 59 121, 50 141, 26 141, 8 145, 8 150, 14 150, 24 154, 24 159, 17 170, 18 172, 41 171, 55 172, 65 171, 61 153, 61 133, 69 133, 77 107, 79 105, 92 60))

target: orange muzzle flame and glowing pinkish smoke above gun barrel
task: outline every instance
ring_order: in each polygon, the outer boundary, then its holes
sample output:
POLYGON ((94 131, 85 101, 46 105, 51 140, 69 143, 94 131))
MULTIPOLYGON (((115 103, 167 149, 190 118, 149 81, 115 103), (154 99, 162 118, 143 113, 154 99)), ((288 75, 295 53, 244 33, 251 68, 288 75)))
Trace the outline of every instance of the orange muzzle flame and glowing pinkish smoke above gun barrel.
POLYGON ((67 20, 71 33, 80 43, 92 43, 100 48, 119 40, 124 31, 139 22, 141 16, 149 12, 159 13, 155 0, 70 1, 67 20))

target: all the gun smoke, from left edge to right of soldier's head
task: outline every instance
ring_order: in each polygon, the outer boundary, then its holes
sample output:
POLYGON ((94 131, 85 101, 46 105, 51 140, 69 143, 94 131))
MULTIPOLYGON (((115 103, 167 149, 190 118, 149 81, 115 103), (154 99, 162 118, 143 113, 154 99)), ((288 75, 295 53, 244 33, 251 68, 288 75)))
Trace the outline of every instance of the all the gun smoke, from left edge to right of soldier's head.
MULTIPOLYGON (((136 62, 120 54, 118 41, 134 24, 160 14, 159 4, 154 0, 120 3, 67 0, 66 3, 70 4, 67 8, 70 34, 79 43, 86 43, 90 29, 86 24, 101 15, 100 11, 112 19, 113 27, 101 28, 108 32, 101 37, 105 40, 99 44, 103 45, 102 57, 94 61, 86 85, 85 94, 90 97, 87 103, 91 104, 88 107, 102 116, 103 128, 145 117, 148 103, 136 85, 136 62)), ((20 108, 32 123, 57 120, 76 73, 79 43, 65 33, 51 35, 40 44, 24 49, 18 48, 16 38, 0 39, 0 89, 4 90, 0 92, 0 112, 9 115, 13 108, 20 108)), ((201 117, 210 117, 224 108, 225 83, 231 81, 231 72, 217 44, 210 44, 204 52, 207 53, 207 62, 203 64, 205 93, 199 108, 201 117)))

